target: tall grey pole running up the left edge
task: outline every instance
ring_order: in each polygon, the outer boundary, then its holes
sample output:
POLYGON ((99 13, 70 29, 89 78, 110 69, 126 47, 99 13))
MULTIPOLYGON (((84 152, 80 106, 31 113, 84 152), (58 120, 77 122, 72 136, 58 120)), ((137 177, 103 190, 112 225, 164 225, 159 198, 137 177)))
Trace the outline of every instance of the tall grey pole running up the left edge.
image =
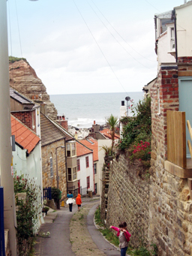
POLYGON ((10 250, 17 256, 15 219, 15 199, 13 176, 10 164, 12 148, 10 144, 10 92, 9 59, 7 42, 7 0, 0 1, 0 174, 1 186, 4 188, 4 221, 9 230, 10 250))

